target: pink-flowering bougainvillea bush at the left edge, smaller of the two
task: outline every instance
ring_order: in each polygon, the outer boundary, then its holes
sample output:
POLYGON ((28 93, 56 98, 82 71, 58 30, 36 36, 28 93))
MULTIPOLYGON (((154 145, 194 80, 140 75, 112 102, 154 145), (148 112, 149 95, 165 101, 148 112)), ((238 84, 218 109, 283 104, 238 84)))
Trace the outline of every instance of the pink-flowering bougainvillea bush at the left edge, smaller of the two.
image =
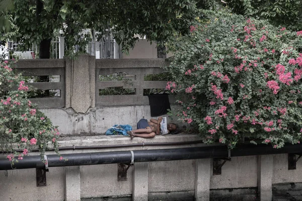
POLYGON ((31 149, 39 148, 44 161, 48 142, 59 155, 56 141, 59 132, 28 99, 29 87, 22 75, 14 72, 15 65, 16 61, 0 63, 0 149, 9 153, 7 158, 14 163, 31 149))

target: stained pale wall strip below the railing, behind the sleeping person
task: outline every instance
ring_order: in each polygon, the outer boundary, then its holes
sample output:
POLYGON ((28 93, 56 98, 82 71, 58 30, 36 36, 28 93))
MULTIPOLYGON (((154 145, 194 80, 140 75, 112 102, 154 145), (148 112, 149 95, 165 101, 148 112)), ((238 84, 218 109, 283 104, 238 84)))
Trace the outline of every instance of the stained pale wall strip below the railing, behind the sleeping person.
MULTIPOLYGON (((68 96, 67 93, 66 96, 68 96)), ((175 106, 172 105, 171 109, 175 109, 175 106)), ((40 111, 51 119, 53 125, 59 127, 58 129, 62 135, 104 134, 110 126, 115 124, 129 124, 133 129, 136 129, 136 123, 141 118, 148 120, 152 118, 150 116, 150 106, 95 108, 88 110, 85 114, 75 113, 70 108, 41 109, 40 111)), ((169 122, 173 123, 170 118, 168 119, 169 122)), ((180 126, 182 125, 180 124, 180 126)))

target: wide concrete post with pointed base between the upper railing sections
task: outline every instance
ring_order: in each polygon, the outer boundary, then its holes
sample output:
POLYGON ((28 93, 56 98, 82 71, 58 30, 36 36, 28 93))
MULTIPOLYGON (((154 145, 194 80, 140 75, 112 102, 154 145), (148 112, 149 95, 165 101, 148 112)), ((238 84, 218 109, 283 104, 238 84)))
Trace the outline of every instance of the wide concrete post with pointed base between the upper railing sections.
POLYGON ((96 59, 80 55, 65 60, 66 100, 65 107, 76 113, 86 113, 95 107, 96 59))

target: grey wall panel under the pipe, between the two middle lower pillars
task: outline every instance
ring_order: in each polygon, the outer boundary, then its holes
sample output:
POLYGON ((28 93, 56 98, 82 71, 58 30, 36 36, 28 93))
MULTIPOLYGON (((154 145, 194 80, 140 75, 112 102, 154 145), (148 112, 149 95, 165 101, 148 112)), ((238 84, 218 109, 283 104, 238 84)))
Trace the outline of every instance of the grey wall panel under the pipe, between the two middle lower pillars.
POLYGON ((195 160, 150 162, 148 192, 187 191, 195 188, 195 160))

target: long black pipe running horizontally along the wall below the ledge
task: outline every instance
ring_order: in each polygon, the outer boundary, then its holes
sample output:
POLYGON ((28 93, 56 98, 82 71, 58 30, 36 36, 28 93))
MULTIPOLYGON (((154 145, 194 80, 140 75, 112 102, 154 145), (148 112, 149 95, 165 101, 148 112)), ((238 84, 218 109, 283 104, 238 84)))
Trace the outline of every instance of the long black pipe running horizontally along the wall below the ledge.
MULTIPOLYGON (((233 156, 252 156, 282 153, 301 153, 302 145, 284 145, 282 148, 274 149, 270 145, 241 145, 230 151, 233 156)), ((201 158, 229 157, 229 150, 226 146, 208 146, 176 149, 157 150, 135 150, 133 151, 133 162, 189 160, 201 158)), ((130 163, 132 154, 130 151, 96 152, 64 154, 68 160, 59 160, 57 155, 47 155, 48 167, 98 165, 110 163, 130 163)), ((41 168, 45 165, 41 162, 40 156, 26 156, 11 166, 8 159, 0 160, 0 170, 41 168)))

